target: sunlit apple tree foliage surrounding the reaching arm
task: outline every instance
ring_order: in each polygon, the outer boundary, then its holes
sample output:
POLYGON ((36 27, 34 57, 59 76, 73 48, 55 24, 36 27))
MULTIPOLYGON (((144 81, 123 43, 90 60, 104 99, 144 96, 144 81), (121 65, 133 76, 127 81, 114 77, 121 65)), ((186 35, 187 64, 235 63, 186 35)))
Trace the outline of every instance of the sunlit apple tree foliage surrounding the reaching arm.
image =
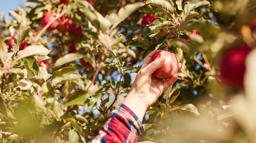
POLYGON ((3 17, 0 24, 2 143, 89 142, 129 92, 143 58, 157 49, 171 51, 183 66, 176 83, 148 109, 139 141, 256 140, 256 2, 59 2, 28 0, 9 11, 13 20, 3 17), (43 26, 46 12, 55 18, 43 26), (148 13, 157 19, 141 24, 148 13), (72 24, 49 29, 62 17, 72 24), (19 50, 23 40, 28 46, 19 50), (223 83, 218 72, 221 56, 237 45, 253 49, 244 88, 223 83), (38 65, 42 60, 47 64, 38 65))

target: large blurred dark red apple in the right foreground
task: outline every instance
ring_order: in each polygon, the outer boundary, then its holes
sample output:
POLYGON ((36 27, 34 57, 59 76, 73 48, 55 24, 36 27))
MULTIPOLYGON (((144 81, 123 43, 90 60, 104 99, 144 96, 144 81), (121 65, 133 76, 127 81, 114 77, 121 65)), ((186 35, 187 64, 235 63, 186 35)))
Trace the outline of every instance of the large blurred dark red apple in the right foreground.
POLYGON ((247 45, 231 49, 220 60, 220 76, 224 83, 243 88, 245 58, 252 48, 247 45))

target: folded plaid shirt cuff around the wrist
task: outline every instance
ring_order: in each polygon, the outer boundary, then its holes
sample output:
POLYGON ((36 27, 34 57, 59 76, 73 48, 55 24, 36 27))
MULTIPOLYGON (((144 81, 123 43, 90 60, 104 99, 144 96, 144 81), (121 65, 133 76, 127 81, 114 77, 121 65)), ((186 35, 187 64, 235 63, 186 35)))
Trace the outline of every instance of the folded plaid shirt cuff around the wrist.
POLYGON ((125 106, 125 104, 120 103, 117 106, 116 111, 123 114, 123 118, 125 118, 132 126, 134 126, 137 135, 141 135, 141 133, 144 132, 143 124, 140 122, 139 118, 134 114, 132 110, 130 110, 130 108, 125 106))

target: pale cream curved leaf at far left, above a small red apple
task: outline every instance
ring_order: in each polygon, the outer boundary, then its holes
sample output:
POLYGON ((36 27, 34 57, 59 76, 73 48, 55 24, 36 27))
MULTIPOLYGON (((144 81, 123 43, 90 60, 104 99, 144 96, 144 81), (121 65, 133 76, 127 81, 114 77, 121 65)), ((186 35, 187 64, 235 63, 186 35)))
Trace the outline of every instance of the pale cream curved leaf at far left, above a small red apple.
POLYGON ((30 45, 27 46, 24 50, 21 50, 18 52, 17 57, 19 59, 25 58, 28 56, 46 56, 51 52, 51 50, 48 50, 44 46, 39 46, 39 45, 30 45))

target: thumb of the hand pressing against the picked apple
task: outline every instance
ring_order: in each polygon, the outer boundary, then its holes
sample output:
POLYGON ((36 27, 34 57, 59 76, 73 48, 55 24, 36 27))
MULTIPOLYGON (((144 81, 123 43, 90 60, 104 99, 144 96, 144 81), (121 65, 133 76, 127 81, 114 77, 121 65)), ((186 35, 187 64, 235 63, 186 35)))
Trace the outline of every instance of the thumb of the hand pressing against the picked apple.
POLYGON ((165 62, 165 58, 159 58, 156 61, 151 62, 145 68, 143 68, 144 72, 147 73, 148 76, 151 76, 158 68, 160 68, 165 62))

